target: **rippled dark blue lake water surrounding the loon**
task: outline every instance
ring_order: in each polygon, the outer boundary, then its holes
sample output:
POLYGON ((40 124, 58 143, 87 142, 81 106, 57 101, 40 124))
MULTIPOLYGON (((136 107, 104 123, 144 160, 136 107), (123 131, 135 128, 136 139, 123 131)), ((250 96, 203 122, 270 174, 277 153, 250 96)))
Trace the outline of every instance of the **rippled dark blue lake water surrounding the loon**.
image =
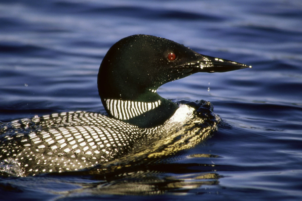
POLYGON ((169 184, 161 195, 142 196, 152 185, 136 191, 140 178, 41 175, 0 178, 0 200, 301 200, 300 0, 2 0, 0 120, 104 112, 101 60, 138 33, 253 66, 159 88, 165 98, 210 101, 224 122, 219 130, 150 173, 153 187, 169 184))

